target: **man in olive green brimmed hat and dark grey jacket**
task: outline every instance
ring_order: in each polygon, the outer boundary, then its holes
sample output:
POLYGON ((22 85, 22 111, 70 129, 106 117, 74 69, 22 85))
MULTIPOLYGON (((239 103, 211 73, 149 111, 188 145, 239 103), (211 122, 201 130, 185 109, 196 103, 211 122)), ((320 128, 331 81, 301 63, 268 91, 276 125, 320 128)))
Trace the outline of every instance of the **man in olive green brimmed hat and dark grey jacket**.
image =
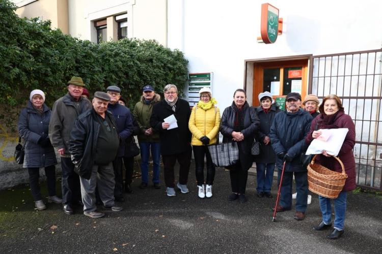
POLYGON ((75 119, 92 107, 90 101, 81 94, 85 84, 79 77, 68 82, 68 93, 53 104, 49 122, 50 142, 61 156, 62 204, 66 214, 73 214, 75 205, 83 205, 79 177, 74 172, 70 159, 69 136, 75 119))

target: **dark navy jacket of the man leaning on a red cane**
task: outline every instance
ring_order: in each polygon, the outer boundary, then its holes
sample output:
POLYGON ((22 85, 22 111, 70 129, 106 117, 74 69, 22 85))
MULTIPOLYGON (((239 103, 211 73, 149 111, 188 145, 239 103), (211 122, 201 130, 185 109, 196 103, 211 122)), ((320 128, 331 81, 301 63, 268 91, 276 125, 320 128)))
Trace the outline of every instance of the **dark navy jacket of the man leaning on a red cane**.
MULTIPOLYGON (((269 138, 276 154, 286 152, 293 157, 292 162, 285 164, 285 171, 307 171, 300 163, 300 156, 308 148, 308 145, 305 144, 305 137, 309 133, 312 120, 313 117, 303 108, 294 113, 284 110, 276 114, 270 128, 269 138)), ((283 163, 282 159, 277 158, 278 169, 283 168, 283 163)))

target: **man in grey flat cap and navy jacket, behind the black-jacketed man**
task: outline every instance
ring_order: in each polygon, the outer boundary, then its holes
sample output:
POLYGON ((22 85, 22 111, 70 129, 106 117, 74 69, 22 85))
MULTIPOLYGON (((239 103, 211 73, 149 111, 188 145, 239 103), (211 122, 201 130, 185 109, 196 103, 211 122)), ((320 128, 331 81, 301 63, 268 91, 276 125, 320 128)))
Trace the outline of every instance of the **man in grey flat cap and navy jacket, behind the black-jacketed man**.
POLYGON ((114 175, 116 185, 114 188, 114 198, 118 202, 123 202, 123 174, 122 164, 125 140, 131 136, 134 126, 132 125, 132 115, 130 110, 118 103, 121 98, 121 89, 118 86, 112 85, 106 88, 107 94, 110 96, 110 102, 107 105, 107 110, 112 112, 117 123, 119 147, 117 157, 113 161, 114 175))

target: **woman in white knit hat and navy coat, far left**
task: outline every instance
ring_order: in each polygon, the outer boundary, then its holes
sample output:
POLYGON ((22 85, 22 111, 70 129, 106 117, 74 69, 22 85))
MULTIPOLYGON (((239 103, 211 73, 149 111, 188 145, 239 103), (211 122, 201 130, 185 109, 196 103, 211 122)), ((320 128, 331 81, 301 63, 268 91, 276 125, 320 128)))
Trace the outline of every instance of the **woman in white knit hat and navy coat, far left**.
POLYGON ((51 110, 44 102, 44 92, 33 90, 28 106, 21 110, 17 122, 18 133, 25 144, 23 168, 28 168, 29 184, 38 210, 46 209, 40 193, 40 168, 45 168, 48 202, 62 203, 56 196, 56 153, 48 137, 51 110))

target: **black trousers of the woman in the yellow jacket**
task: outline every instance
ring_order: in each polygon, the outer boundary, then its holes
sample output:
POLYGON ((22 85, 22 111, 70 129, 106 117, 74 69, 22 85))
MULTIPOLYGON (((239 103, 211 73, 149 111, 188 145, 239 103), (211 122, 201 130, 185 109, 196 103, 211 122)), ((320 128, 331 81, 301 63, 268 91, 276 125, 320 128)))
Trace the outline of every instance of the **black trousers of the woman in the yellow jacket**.
POLYGON ((194 145, 194 157, 195 157, 195 174, 198 185, 204 184, 204 155, 206 156, 207 163, 207 179, 206 184, 212 185, 215 178, 215 166, 212 163, 211 154, 209 153, 208 146, 206 145, 194 145))

